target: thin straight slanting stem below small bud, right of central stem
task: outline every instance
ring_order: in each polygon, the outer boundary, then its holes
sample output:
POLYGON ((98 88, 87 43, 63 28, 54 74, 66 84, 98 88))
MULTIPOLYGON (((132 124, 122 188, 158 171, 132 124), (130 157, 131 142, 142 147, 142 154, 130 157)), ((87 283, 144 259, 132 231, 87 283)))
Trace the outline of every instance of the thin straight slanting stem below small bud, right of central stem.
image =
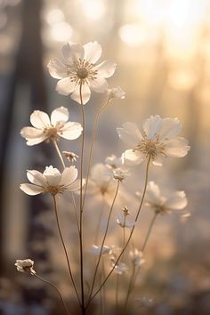
MULTIPOLYGON (((96 274, 97 274, 97 271, 98 271, 98 268, 99 268, 99 264, 101 262, 101 255, 102 255, 103 246, 104 246, 105 239, 107 237, 107 233, 108 233, 108 229, 109 229, 110 217, 111 217, 112 210, 113 210, 113 207, 115 205, 116 198, 117 198, 117 193, 118 193, 118 190, 119 190, 119 183, 120 182, 117 182, 117 189, 116 189, 115 196, 113 198, 113 201, 112 201, 112 204, 111 204, 111 207, 110 207, 110 210, 109 210, 109 217, 108 217, 108 221, 107 221, 107 226, 106 226, 106 230, 105 230, 105 233, 104 233, 104 236, 103 236, 103 240, 102 240, 102 244, 101 244, 101 251, 100 251, 100 254, 99 254, 98 262, 97 262, 96 267, 95 267, 95 271, 94 271, 94 275, 93 275, 93 283, 92 283, 92 287, 91 287, 91 291, 90 291, 90 295, 89 295, 88 303, 87 303, 86 307, 89 305, 90 301, 92 300, 93 287, 94 287, 94 284, 95 284, 95 279, 96 279, 96 274)), ((102 284, 104 285, 104 283, 102 283, 102 284)), ((100 289, 101 289, 101 287, 100 287, 100 289)))

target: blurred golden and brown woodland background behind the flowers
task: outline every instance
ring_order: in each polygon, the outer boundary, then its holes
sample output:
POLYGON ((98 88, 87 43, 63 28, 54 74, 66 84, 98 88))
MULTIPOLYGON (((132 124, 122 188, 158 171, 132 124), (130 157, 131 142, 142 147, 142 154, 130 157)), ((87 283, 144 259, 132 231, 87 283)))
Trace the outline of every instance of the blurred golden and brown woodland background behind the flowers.
MULTIPOLYGON (((17 258, 35 258, 38 270, 69 295, 65 262, 52 229, 51 201, 28 198, 19 190, 27 169, 43 170, 59 166, 59 161, 51 145, 27 148, 20 128, 28 125, 32 110, 51 112, 61 105, 69 108, 72 121, 81 121, 77 104, 55 92, 56 80, 46 65, 61 56, 62 44, 94 40, 103 47, 102 60, 117 62, 109 85, 120 85, 126 98, 113 102, 101 117, 93 162, 125 149, 117 126, 134 121, 141 127, 152 114, 179 117, 182 136, 191 146, 186 158, 168 159, 161 169, 151 167, 150 180, 163 189, 186 191, 190 216, 158 218, 133 294, 133 314, 210 314, 209 0, 0 0, 0 313, 61 314, 52 290, 17 274, 17 258), (144 297, 153 300, 144 301, 149 307, 142 305, 144 297)), ((93 93, 85 106, 89 138, 94 112, 104 98, 93 93)), ((79 153, 79 143, 71 144, 71 150, 79 153)), ((131 210, 142 182, 140 166, 128 180, 131 199, 126 206, 131 210)), ((101 206, 93 200, 90 205, 95 209, 87 210, 87 224, 101 206)), ((75 230, 68 209, 64 213, 70 241, 75 230)), ((145 209, 136 246, 141 246, 150 218, 145 209)), ((120 233, 114 228, 111 232, 109 245, 119 243, 120 233)), ((89 236, 87 230, 86 247, 91 246, 89 236)))

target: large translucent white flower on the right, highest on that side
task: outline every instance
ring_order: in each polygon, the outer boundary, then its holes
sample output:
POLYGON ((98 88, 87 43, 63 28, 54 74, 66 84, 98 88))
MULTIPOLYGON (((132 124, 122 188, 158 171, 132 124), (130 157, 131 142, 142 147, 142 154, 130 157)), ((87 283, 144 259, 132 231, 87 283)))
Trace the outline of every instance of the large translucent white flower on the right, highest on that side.
POLYGON ((143 133, 133 123, 125 123, 117 128, 117 133, 131 149, 125 150, 127 165, 138 165, 145 158, 151 158, 156 166, 162 166, 166 157, 182 158, 188 153, 188 141, 177 134, 182 125, 178 118, 161 118, 151 116, 143 124, 143 133))

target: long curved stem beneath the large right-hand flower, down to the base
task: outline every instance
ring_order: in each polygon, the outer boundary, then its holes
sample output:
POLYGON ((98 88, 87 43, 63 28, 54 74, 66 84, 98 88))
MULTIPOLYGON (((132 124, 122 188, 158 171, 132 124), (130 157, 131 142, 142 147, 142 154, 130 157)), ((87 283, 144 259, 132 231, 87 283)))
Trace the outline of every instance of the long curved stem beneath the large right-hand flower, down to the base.
MULTIPOLYGON (((146 190, 147 190, 147 184, 148 184, 148 177, 149 177, 149 162, 150 162, 150 158, 148 159, 148 162, 147 162, 147 166, 146 166, 146 174, 145 174, 145 182, 144 182, 144 189, 143 189, 143 193, 142 193, 142 197, 141 197, 141 202, 140 202, 140 206, 139 206, 139 209, 138 209, 138 212, 136 214, 136 217, 135 217, 135 222, 137 222, 138 218, 139 218, 139 214, 141 212, 141 207, 142 207, 142 204, 143 204, 143 200, 144 200, 144 197, 145 197, 145 194, 146 194, 146 190)), ((136 225, 136 224, 135 224, 136 225)), ((118 255, 118 258, 117 258, 117 261, 116 263, 113 265, 112 269, 109 271, 109 274, 107 275, 107 277, 103 280, 101 286, 97 289, 97 291, 92 295, 92 297, 90 298, 90 301, 93 300, 93 298, 99 293, 99 291, 101 290, 101 287, 104 286, 104 284, 107 282, 107 280, 109 279, 110 275, 112 274, 112 272, 115 270, 116 266, 117 266, 117 263, 118 261, 120 260, 121 256, 124 254, 125 252, 125 248, 126 246, 128 246, 132 236, 133 236, 133 230, 135 228, 135 225, 133 226, 131 232, 130 232, 130 235, 125 243, 125 246, 124 248, 122 249, 121 253, 118 255)), ((89 301, 89 302, 90 302, 89 301)), ((89 304, 89 303, 88 303, 89 304)))

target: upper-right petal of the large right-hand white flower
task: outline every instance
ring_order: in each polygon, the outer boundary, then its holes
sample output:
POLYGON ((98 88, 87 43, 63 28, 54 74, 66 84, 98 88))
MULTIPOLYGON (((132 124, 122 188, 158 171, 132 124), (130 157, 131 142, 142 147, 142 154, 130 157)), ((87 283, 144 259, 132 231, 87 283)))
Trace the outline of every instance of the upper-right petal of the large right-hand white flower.
POLYGON ((164 118, 158 132, 160 139, 170 139, 180 133, 182 125, 178 118, 164 118))

